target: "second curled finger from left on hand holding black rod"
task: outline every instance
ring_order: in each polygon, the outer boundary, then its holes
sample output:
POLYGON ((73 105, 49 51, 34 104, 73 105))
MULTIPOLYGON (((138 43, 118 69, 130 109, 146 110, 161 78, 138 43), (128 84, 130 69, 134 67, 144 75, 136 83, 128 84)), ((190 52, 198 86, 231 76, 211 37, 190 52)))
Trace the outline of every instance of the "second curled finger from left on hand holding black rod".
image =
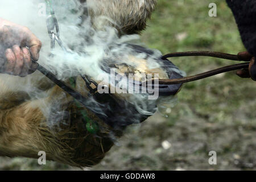
POLYGON ((15 76, 18 76, 20 74, 20 72, 22 71, 23 64, 24 64, 23 52, 20 49, 20 47, 17 46, 17 45, 13 46, 13 52, 14 52, 14 55, 16 57, 13 74, 15 76))

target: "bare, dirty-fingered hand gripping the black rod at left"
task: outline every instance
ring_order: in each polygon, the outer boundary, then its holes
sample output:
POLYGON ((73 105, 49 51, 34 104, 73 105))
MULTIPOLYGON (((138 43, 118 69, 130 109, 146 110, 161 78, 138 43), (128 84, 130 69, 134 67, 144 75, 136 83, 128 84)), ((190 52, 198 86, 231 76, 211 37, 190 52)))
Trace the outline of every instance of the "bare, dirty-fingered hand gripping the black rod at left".
POLYGON ((0 73, 25 77, 36 71, 42 43, 27 28, 0 18, 0 73))

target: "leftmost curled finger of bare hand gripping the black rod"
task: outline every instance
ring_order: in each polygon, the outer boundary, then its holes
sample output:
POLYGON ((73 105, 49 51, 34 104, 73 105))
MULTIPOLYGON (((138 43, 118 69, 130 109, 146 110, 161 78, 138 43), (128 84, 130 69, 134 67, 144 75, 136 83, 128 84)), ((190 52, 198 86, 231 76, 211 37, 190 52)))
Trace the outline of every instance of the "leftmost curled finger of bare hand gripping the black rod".
POLYGON ((5 59, 6 59, 6 62, 4 65, 4 73, 13 75, 16 57, 12 49, 6 49, 5 59))

